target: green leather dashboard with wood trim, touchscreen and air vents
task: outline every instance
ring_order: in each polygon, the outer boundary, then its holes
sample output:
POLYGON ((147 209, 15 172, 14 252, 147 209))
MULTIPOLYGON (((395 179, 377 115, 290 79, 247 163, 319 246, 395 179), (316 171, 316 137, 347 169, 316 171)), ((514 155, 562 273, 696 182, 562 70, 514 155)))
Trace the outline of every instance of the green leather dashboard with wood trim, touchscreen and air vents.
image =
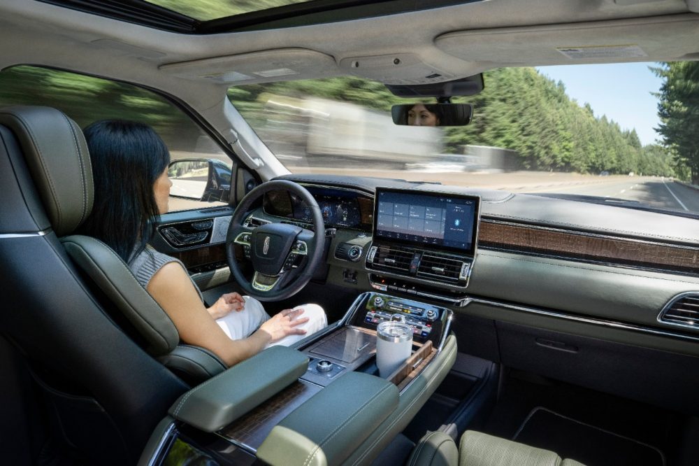
MULTIPOLYGON (((684 318, 678 299, 699 296, 696 220, 433 183, 282 178, 304 185, 326 227, 336 229, 323 283, 412 295, 485 318, 495 307, 500 318, 518 323, 524 314, 552 327, 549 318, 600 327, 613 322, 633 332, 671 334, 680 339, 673 351, 699 341, 699 326, 677 323, 684 318), (447 218, 438 224, 431 211, 439 208, 431 203, 447 197, 480 204, 470 213, 461 209, 459 226, 450 218, 447 228, 447 218), (396 204, 404 205, 396 211, 396 204)), ((310 224, 308 206, 287 192, 268 193, 254 216, 310 224)))

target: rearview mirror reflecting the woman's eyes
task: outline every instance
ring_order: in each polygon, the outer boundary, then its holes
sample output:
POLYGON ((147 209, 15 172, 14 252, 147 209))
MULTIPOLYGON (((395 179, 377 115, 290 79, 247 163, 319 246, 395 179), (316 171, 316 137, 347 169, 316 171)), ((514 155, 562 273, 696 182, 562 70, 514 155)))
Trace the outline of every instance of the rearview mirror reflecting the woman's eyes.
POLYGON ((408 126, 466 126, 473 116, 471 104, 416 104, 391 107, 394 124, 408 126))

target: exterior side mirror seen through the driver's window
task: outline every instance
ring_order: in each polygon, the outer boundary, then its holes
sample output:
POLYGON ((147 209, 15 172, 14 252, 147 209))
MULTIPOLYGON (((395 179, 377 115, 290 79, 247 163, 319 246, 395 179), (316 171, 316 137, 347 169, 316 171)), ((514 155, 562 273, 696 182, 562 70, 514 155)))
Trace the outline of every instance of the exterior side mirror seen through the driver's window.
POLYGON ((168 166, 173 182, 170 195, 201 202, 229 202, 231 169, 215 159, 173 160, 168 166))

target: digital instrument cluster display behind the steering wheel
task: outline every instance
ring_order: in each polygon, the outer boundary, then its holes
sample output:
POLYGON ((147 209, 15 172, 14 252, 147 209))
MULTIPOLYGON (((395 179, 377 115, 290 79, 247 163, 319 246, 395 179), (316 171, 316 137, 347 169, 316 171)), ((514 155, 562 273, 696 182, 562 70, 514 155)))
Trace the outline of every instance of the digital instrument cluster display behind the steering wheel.
MULTIPOLYGON (((323 216, 326 227, 370 230, 372 201, 356 192, 328 188, 308 188, 323 216)), ((312 223, 312 212, 300 197, 286 191, 268 192, 264 210, 273 216, 291 218, 312 223)))

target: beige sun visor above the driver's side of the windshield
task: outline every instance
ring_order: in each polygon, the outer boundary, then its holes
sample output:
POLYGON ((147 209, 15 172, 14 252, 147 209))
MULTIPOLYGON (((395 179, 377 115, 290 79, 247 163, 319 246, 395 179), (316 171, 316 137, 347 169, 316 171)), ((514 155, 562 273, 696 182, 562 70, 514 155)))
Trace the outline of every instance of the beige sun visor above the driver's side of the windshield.
POLYGON ((282 48, 170 63, 161 71, 192 80, 239 85, 268 81, 337 76, 335 59, 315 50, 282 48))

